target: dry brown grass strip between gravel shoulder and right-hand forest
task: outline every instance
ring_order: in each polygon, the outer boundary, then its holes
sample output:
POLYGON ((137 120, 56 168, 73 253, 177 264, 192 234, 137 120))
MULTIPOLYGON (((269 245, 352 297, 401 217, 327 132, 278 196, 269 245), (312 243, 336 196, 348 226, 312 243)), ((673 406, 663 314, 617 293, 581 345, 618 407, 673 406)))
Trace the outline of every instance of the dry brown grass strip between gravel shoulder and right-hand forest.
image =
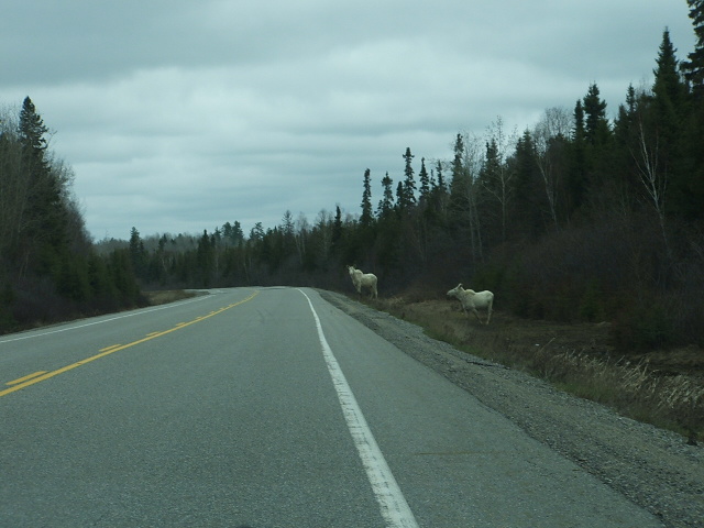
POLYGON ((624 416, 704 441, 704 378, 653 369, 648 358, 615 354, 604 324, 526 321, 496 312, 488 327, 468 321, 446 300, 380 300, 375 307, 415 322, 468 353, 544 378, 624 416))

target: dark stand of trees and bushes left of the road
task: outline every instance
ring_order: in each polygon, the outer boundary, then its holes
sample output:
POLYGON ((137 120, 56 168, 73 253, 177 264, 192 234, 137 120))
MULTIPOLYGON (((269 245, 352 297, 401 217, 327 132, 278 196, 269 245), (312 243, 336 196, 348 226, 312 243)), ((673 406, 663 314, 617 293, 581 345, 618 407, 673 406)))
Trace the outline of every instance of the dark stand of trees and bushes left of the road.
POLYGON ((141 299, 129 253, 95 251, 48 134, 29 97, 0 116, 0 333, 141 299))

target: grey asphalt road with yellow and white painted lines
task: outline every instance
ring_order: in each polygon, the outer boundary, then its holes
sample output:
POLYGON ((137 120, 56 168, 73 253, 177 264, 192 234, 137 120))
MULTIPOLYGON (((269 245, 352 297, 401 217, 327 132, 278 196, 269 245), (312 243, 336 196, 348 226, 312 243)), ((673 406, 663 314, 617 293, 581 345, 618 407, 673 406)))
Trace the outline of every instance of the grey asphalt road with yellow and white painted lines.
POLYGON ((315 290, 237 288, 0 337, 0 526, 661 525, 315 290))

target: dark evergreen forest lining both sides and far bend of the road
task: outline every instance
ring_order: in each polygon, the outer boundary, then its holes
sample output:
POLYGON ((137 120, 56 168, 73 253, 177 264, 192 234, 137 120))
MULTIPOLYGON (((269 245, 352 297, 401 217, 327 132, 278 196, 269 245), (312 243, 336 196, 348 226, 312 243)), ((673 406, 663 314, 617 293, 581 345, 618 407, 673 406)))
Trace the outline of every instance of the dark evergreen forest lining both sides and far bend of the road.
POLYGON ((595 82, 520 134, 497 118, 482 136, 449 138, 447 160, 408 147, 381 197, 363 172, 359 213, 285 211, 249 233, 238 221, 200 235, 134 227, 92 243, 28 98, 0 125, 0 328, 134 306, 140 287, 350 290, 356 264, 381 296, 462 282, 521 317, 608 320, 623 348, 704 345, 704 1, 688 3, 695 50, 678 58, 666 29, 652 86, 625 87, 615 116, 595 82))

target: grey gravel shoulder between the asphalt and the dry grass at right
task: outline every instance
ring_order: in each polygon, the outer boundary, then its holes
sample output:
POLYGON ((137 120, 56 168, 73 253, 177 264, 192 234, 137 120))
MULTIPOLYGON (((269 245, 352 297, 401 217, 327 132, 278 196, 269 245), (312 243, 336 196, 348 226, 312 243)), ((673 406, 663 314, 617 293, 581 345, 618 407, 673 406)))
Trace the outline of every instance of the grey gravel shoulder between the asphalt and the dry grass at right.
POLYGON ((667 527, 704 527, 704 449, 522 372, 427 337, 416 324, 327 290, 320 296, 574 461, 667 527))

